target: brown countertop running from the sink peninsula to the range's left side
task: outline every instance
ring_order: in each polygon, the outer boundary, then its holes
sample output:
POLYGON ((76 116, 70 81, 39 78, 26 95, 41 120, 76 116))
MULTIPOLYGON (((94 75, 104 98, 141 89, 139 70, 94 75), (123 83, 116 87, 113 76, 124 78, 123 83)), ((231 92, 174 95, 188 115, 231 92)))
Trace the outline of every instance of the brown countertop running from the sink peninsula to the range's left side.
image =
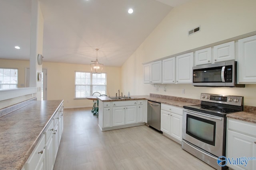
POLYGON ((158 94, 150 94, 150 96, 131 96, 131 99, 110 99, 106 96, 98 97, 102 102, 116 102, 116 101, 127 101, 127 100, 150 100, 153 102, 159 102, 162 104, 169 104, 172 106, 183 107, 187 105, 200 104, 200 100, 179 98, 174 96, 164 96, 158 94))

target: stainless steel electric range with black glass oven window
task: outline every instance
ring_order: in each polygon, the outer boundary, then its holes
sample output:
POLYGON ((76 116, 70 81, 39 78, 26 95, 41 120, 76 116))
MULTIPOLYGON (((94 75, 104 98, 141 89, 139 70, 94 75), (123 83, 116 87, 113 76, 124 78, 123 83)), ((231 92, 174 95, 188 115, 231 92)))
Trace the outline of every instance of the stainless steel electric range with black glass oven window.
POLYGON ((201 94, 201 104, 184 106, 182 118, 182 149, 210 166, 226 154, 226 114, 243 110, 242 96, 201 94))

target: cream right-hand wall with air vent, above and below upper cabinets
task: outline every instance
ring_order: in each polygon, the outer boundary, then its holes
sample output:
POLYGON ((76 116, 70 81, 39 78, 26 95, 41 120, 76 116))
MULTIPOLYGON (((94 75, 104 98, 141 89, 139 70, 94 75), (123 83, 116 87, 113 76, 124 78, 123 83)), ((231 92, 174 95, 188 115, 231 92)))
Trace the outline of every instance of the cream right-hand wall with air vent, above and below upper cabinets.
POLYGON ((244 96, 244 104, 256 106, 256 85, 245 88, 194 87, 191 84, 143 83, 143 65, 149 61, 256 31, 255 0, 193 0, 174 8, 132 56, 122 65, 122 90, 131 95, 150 93, 200 99, 200 93, 244 96), (188 30, 201 31, 188 36, 188 30), (159 91, 156 92, 158 86, 159 91), (166 86, 166 92, 163 91, 166 86), (185 94, 182 94, 185 89, 185 94))

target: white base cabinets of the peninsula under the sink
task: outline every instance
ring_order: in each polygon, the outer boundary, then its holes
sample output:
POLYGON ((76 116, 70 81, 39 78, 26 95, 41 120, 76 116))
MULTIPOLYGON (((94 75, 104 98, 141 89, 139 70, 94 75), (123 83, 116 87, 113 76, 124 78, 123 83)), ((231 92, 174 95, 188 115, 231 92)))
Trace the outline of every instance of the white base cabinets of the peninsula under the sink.
POLYGON ((145 124, 146 100, 102 102, 98 125, 102 131, 145 124))

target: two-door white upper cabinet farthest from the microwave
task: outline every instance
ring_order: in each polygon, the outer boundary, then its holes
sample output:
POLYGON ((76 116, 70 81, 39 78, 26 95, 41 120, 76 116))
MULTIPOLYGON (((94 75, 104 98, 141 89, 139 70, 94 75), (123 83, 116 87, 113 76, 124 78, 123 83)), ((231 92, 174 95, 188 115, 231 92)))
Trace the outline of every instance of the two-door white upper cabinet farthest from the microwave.
POLYGON ((144 65, 144 83, 162 83, 162 61, 144 65))

